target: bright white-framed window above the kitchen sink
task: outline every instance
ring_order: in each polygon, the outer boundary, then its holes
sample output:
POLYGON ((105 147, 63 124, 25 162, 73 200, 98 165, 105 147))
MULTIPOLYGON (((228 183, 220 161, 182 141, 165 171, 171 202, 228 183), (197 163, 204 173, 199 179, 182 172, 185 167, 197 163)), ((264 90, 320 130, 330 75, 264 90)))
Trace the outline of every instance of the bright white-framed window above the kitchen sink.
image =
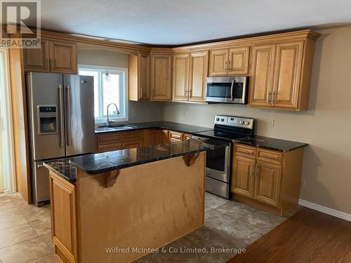
POLYGON ((109 119, 114 121, 128 121, 128 69, 119 67, 101 67, 91 65, 79 65, 79 75, 94 77, 94 115, 95 123, 104 123, 109 108, 109 119), (106 79, 106 72, 110 81, 106 79))

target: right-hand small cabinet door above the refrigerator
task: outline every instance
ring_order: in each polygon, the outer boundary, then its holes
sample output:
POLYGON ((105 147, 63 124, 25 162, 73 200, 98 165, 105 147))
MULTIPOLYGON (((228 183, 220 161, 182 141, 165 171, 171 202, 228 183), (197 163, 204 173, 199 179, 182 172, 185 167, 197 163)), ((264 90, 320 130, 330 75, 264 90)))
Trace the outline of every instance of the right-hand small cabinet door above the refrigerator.
POLYGON ((77 74, 77 45, 50 41, 50 71, 77 74))

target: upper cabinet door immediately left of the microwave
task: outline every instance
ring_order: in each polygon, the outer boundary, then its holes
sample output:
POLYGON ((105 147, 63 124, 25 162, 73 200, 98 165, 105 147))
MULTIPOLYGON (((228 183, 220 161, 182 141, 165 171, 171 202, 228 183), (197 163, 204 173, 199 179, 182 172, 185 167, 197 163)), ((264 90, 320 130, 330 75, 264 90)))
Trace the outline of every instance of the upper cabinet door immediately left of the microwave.
POLYGON ((189 100, 206 100, 206 77, 208 72, 208 51, 190 53, 189 100))

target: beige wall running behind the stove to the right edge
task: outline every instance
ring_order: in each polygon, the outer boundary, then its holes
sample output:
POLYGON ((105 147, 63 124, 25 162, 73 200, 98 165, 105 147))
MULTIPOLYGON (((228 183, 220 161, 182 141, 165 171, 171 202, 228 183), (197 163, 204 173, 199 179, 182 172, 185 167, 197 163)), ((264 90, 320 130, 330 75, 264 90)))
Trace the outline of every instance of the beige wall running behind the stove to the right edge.
POLYGON ((319 32, 307 112, 169 102, 164 120, 212 127, 214 114, 248 116, 258 135, 307 142, 300 198, 351 214, 351 27, 319 32))

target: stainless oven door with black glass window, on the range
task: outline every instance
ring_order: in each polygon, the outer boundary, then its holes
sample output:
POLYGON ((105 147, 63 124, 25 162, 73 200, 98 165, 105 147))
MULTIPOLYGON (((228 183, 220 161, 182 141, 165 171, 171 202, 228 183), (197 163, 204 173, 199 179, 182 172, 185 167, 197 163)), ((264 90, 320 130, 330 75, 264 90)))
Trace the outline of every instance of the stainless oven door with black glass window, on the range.
POLYGON ((221 182, 230 182, 230 146, 207 151, 206 176, 221 182))

